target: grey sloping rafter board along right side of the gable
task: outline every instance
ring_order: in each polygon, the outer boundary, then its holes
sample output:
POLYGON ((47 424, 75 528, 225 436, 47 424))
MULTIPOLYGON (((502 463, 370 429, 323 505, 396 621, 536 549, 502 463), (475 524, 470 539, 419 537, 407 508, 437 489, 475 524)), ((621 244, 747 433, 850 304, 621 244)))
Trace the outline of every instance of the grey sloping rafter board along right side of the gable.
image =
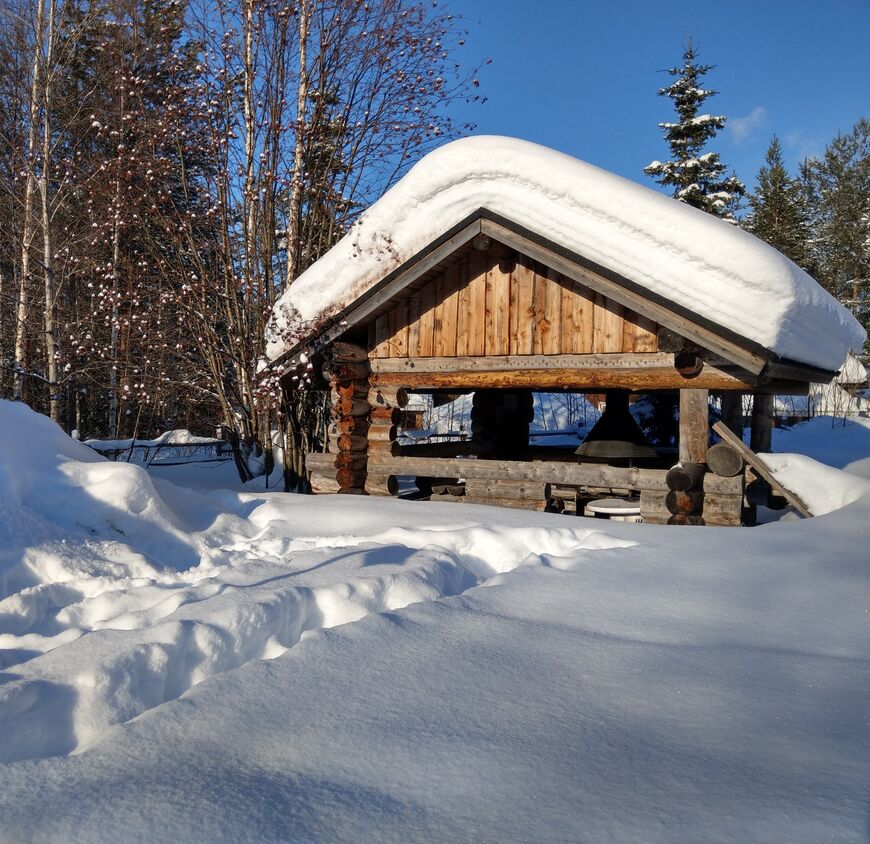
MULTIPOLYGON (((569 260, 501 223, 484 218, 481 220, 481 231, 501 243, 513 246, 536 261, 540 261, 548 267, 558 270, 568 278, 587 285, 595 292, 603 293, 615 302, 654 319, 660 325, 664 325, 681 336, 693 340, 699 346, 723 355, 728 360, 739 364, 753 374, 757 375, 760 373, 767 364, 767 358, 757 352, 741 346, 705 326, 692 322, 687 316, 678 314, 659 302, 651 300, 640 289, 635 290, 631 287, 623 286, 587 266, 569 260)), ((625 281, 628 282, 627 279, 625 281)), ((632 287, 635 286, 639 287, 638 285, 632 285, 632 287)))

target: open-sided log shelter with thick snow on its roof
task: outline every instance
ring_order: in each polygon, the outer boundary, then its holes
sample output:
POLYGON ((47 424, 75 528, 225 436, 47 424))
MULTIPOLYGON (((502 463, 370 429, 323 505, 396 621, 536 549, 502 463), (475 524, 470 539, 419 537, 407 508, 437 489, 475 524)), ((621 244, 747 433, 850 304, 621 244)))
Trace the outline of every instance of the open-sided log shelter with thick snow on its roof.
POLYGON ((286 389, 314 363, 332 390, 315 492, 389 494, 411 476, 469 501, 610 492, 639 495, 645 521, 740 524, 742 463, 722 449, 708 462, 710 391, 805 395, 864 331, 728 223, 553 150, 473 137, 421 160, 300 276, 268 341, 286 389), (626 420, 629 391, 661 390, 679 390, 678 455, 626 420), (529 446, 542 391, 605 392, 612 412, 577 454, 544 453, 529 446), (427 392, 474 392, 469 441, 398 444, 408 394, 427 392))

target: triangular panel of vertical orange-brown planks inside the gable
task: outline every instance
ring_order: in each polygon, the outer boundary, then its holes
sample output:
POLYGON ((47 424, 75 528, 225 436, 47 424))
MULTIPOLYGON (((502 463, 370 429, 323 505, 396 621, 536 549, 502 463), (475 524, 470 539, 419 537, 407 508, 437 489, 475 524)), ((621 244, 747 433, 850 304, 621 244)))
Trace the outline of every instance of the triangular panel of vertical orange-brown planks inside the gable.
POLYGON ((473 250, 369 326, 374 358, 656 352, 658 325, 519 255, 473 250))

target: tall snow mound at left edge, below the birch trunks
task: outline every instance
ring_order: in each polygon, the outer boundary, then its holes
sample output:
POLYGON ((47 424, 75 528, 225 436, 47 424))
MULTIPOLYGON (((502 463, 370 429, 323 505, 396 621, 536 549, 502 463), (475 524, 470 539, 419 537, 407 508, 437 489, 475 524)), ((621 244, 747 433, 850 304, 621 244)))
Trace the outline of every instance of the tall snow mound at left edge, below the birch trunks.
POLYGON ((198 559, 148 473, 0 401, 0 598, 79 577, 158 577, 198 559), (41 549, 37 552, 35 549, 41 549))

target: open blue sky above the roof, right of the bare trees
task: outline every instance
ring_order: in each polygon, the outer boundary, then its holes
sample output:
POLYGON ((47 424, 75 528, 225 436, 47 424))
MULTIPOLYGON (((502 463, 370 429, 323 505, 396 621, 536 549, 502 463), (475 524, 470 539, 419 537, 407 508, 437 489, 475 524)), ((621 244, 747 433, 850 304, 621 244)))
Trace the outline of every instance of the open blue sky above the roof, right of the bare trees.
POLYGON ((711 143, 752 187, 771 135, 794 171, 870 117, 870 0, 452 0, 467 18, 466 62, 488 101, 463 109, 476 133, 536 141, 652 185, 664 158, 656 96, 687 37, 729 125, 711 143))

